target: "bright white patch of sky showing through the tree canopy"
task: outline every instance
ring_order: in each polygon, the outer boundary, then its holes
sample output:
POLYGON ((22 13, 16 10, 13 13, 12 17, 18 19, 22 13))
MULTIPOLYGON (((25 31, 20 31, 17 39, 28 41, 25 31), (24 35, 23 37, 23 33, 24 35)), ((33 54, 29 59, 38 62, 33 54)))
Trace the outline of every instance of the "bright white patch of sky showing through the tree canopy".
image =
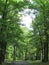
POLYGON ((33 14, 34 10, 25 9, 22 13, 21 23, 28 29, 31 28, 32 20, 34 20, 35 15, 33 14))

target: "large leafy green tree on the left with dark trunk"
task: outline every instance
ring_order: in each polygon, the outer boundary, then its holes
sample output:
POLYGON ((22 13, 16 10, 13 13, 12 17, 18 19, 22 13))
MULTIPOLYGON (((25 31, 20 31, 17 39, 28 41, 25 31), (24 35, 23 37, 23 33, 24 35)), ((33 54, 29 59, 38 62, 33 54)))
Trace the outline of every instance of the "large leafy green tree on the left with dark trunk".
POLYGON ((25 4, 23 5, 23 1, 20 0, 0 0, 0 3, 0 63, 2 63, 5 59, 7 43, 14 43, 20 39, 22 31, 19 26, 18 11, 21 11, 25 4))

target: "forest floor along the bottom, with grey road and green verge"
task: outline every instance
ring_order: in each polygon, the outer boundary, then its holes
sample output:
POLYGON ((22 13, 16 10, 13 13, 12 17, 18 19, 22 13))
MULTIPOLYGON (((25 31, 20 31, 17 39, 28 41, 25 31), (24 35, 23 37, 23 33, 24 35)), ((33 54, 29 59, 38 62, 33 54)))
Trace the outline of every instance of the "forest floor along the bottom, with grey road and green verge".
POLYGON ((49 65, 49 62, 44 63, 40 61, 14 61, 4 65, 49 65))

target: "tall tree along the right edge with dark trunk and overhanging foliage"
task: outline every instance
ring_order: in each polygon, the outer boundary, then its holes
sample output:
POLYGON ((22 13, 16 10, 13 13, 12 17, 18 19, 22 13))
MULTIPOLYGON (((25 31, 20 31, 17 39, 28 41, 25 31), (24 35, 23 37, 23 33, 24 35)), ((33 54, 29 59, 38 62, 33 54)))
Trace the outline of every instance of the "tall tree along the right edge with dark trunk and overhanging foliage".
POLYGON ((30 8, 35 10, 35 15, 37 17, 40 16, 39 20, 40 23, 42 22, 43 24, 43 31, 44 31, 44 36, 45 36, 45 41, 44 41, 44 61, 48 61, 48 20, 49 18, 48 11, 49 11, 49 1, 48 0, 33 0, 33 3, 29 6, 30 8), (47 53, 46 53, 47 52, 47 53))

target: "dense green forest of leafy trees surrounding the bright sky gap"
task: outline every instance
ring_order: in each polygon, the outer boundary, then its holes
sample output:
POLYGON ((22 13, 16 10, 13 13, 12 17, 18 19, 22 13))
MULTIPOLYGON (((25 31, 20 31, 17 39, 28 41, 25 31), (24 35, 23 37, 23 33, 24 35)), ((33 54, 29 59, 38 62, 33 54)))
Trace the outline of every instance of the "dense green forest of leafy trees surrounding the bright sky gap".
POLYGON ((48 62, 49 0, 0 0, 0 64, 18 60, 48 62), (31 29, 21 23, 25 9, 35 15, 31 29))

